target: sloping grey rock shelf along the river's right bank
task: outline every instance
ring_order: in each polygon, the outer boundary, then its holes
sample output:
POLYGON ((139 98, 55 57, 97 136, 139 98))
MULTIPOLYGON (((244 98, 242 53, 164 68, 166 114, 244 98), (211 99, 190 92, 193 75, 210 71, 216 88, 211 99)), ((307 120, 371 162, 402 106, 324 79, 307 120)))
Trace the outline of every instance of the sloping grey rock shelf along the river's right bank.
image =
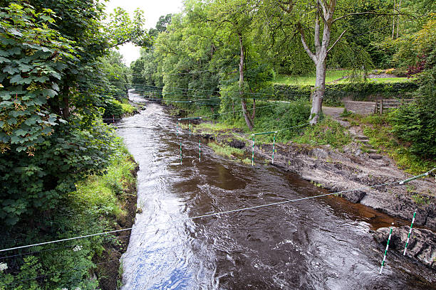
MULTIPOLYGON (((251 140, 244 136, 228 131, 228 134, 203 134, 199 136, 214 139, 219 144, 237 147, 245 151, 245 156, 251 155, 251 140), (236 138, 235 138, 236 135, 236 138)), ((255 166, 269 163, 284 171, 296 173, 306 181, 316 186, 338 192, 355 188, 365 188, 382 183, 410 178, 410 174, 401 171, 395 162, 388 156, 373 159, 370 154, 360 150, 358 142, 353 141, 343 149, 333 149, 331 146, 311 146, 307 144, 275 144, 274 164, 271 163, 272 144, 257 143, 254 146, 255 166)), ((430 229, 427 235, 415 235, 414 247, 408 253, 427 267, 435 269, 436 258, 436 208, 435 208, 435 181, 432 177, 419 178, 403 186, 382 186, 365 190, 343 193, 343 198, 368 206, 381 213, 399 218, 395 227, 410 225, 413 213, 416 211, 415 226, 430 229), (427 198, 428 197, 428 198, 427 198), (407 224, 406 224, 407 222, 407 224), (427 239, 425 237, 432 237, 427 239), (421 239, 422 238, 422 239, 421 239)), ((376 240, 381 244, 380 232, 373 232, 376 240)), ((400 235, 400 233, 398 233, 400 235)), ((396 247, 404 247, 405 241, 398 242, 396 247)))

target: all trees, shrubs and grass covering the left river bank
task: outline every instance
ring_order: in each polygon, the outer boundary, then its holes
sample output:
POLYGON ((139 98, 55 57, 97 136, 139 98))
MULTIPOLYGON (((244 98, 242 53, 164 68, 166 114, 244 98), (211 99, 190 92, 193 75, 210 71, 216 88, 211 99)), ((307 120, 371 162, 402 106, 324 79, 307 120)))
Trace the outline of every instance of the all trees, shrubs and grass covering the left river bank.
MULTIPOLYGON (((1 249, 133 222, 136 166, 101 119, 108 103, 117 117, 133 111, 112 48, 149 39, 141 15, 107 17, 97 0, 0 1, 1 249)), ((0 289, 115 289, 127 243, 103 235, 2 252, 0 289)))

